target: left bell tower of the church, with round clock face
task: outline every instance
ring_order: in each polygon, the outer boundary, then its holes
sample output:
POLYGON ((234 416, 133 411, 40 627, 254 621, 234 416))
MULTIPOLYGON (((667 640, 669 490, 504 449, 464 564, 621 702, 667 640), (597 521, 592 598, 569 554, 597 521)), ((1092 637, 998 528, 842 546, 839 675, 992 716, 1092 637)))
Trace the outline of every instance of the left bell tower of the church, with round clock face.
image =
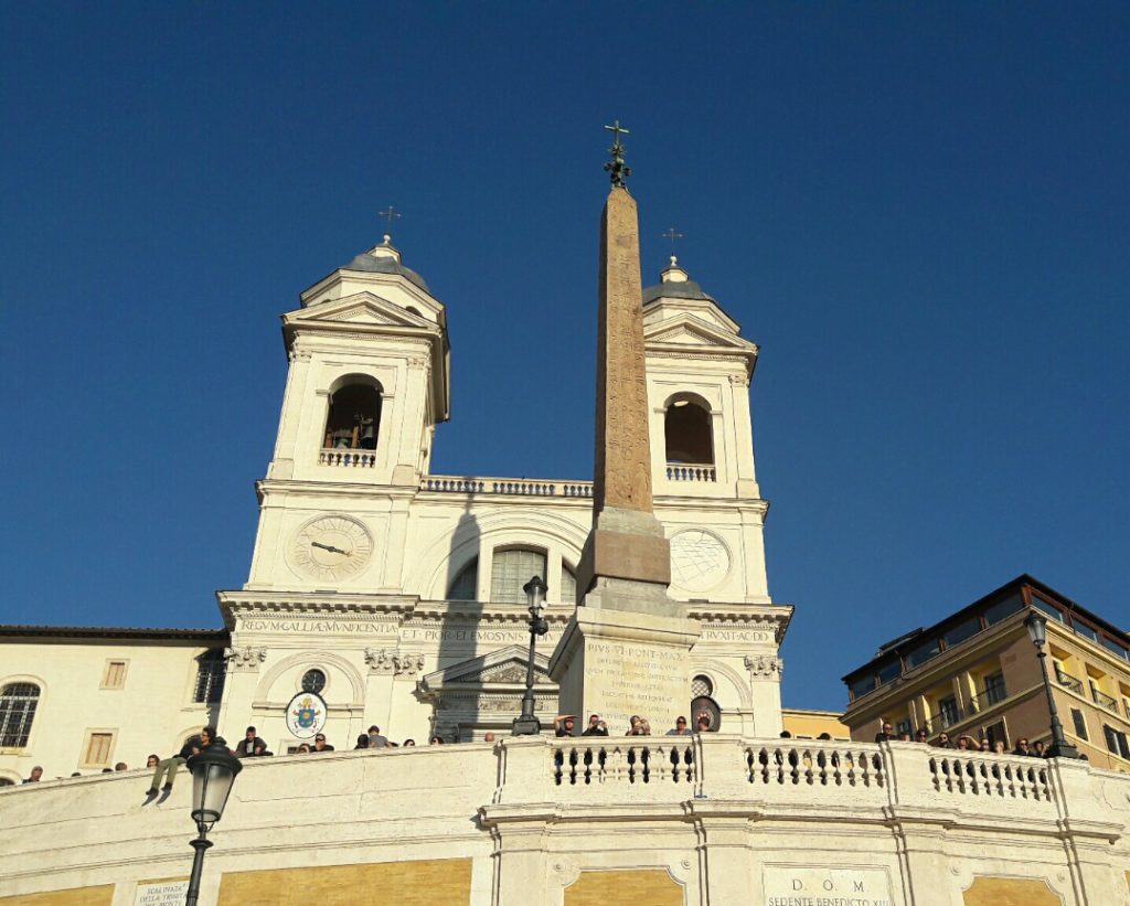
POLYGON ((408 504, 450 416, 444 306, 388 235, 299 298, 245 587, 395 591, 408 504))

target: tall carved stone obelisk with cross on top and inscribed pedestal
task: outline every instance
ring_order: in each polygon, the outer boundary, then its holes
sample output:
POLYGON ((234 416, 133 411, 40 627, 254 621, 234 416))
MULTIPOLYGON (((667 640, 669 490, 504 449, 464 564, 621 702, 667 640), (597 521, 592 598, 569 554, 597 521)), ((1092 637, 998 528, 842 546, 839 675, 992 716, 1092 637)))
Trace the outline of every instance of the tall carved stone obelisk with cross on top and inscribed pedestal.
POLYGON ((667 593, 670 547, 652 511, 638 217, 624 184, 627 130, 607 128, 615 140, 600 228, 592 530, 577 566, 577 609, 549 671, 563 714, 600 714, 614 735, 637 714, 661 733, 690 707, 698 625, 667 593))

